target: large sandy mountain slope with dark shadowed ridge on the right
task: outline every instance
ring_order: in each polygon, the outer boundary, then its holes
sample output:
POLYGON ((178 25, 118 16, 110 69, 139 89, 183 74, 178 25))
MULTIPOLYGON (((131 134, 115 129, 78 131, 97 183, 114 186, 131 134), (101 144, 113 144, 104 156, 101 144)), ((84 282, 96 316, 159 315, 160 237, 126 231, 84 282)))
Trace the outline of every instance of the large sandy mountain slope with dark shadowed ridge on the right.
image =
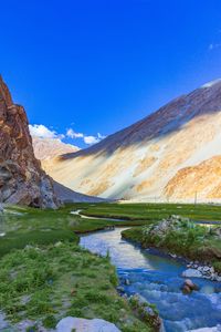
POLYGON ((221 199, 221 80, 46 165, 63 185, 131 200, 221 199))

